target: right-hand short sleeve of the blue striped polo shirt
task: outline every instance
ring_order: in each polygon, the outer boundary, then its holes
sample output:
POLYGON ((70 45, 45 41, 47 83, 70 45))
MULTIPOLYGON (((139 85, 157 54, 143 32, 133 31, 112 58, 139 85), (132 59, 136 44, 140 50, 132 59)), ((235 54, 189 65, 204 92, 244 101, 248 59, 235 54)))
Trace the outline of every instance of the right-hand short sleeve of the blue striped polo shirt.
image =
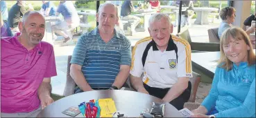
POLYGON ((131 50, 130 50, 130 41, 126 39, 123 46, 121 46, 121 62, 120 65, 128 65, 130 66, 131 59, 131 50))

